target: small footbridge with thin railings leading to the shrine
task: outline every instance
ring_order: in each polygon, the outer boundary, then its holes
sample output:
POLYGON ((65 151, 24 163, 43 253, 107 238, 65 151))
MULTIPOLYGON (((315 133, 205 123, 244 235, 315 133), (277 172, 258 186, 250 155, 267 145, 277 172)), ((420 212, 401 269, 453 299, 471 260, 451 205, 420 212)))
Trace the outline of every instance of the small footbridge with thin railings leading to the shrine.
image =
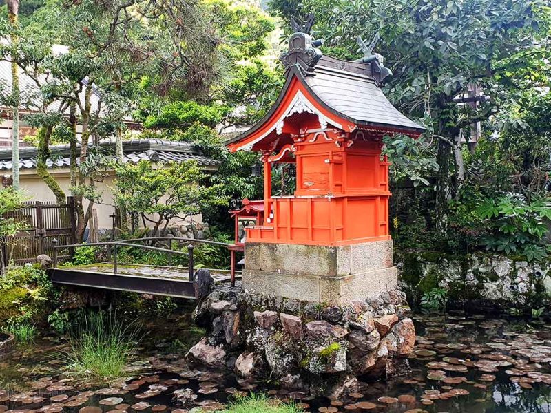
MULTIPOLYGON (((54 240, 55 243, 55 240, 54 240)), ((235 285, 240 273, 236 271, 236 251, 243 251, 240 245, 225 244, 208 240, 196 240, 180 237, 145 237, 124 241, 94 242, 90 244, 55 245, 53 268, 48 274, 54 284, 104 288, 107 290, 129 291, 152 295, 166 295, 187 299, 196 298, 194 283, 194 248, 195 244, 211 244, 227 248, 231 258, 231 270, 211 269, 215 283, 231 282, 235 285), (138 242, 165 242, 165 248, 138 244, 138 242), (187 244, 187 252, 173 249, 174 242, 187 244), (83 246, 103 246, 109 255, 108 262, 85 266, 59 266, 58 256, 62 248, 79 248, 83 246), (122 264, 119 262, 121 248, 132 247, 157 251, 168 255, 169 264, 172 255, 187 255, 189 265, 151 266, 140 264, 122 264)))

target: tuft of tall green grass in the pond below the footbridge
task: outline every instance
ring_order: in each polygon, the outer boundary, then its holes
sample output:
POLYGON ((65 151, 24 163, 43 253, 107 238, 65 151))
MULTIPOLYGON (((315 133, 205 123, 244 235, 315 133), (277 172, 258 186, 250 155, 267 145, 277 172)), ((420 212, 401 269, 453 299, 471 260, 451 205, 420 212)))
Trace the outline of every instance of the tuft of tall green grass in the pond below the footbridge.
POLYGON ((123 377, 137 339, 138 328, 114 313, 83 313, 70 331, 67 370, 107 381, 123 377))

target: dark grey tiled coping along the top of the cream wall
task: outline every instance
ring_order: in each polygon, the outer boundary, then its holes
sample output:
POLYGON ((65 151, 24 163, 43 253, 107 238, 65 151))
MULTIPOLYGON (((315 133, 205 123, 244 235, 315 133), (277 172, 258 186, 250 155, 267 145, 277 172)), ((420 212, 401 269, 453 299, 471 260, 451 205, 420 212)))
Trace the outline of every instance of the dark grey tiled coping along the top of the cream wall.
MULTIPOLYGON (((107 153, 115 151, 115 142, 100 144, 107 153)), ((46 162, 48 168, 67 168, 70 166, 69 145, 54 145, 52 156, 46 162)), ((125 140, 123 142, 123 162, 138 163, 141 160, 150 162, 184 162, 196 160, 198 165, 209 169, 216 168, 218 160, 207 158, 190 142, 172 142, 160 139, 125 140)), ((37 148, 21 148, 19 151, 19 169, 34 169, 37 167, 37 148)), ((0 171, 12 169, 12 149, 0 149, 0 171)))

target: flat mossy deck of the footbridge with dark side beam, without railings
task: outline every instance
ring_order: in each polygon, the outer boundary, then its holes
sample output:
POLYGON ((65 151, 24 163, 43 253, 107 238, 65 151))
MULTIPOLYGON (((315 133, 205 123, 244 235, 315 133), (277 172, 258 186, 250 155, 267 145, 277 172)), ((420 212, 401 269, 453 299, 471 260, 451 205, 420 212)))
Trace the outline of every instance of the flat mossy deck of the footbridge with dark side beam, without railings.
MULTIPOLYGON (((230 271, 210 271, 216 283, 231 281, 230 271)), ((92 264, 49 268, 48 274, 54 284, 195 299, 187 268, 118 264, 115 274, 112 264, 92 264)))

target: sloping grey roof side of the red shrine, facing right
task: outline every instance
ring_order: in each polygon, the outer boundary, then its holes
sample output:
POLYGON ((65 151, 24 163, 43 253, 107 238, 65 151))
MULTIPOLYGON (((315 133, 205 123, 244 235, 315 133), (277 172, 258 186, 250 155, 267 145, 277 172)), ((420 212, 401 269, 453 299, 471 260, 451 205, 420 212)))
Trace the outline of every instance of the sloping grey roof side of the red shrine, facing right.
POLYGON ((320 103, 343 118, 360 125, 424 131, 388 101, 364 63, 322 56, 313 76, 303 79, 320 103))

